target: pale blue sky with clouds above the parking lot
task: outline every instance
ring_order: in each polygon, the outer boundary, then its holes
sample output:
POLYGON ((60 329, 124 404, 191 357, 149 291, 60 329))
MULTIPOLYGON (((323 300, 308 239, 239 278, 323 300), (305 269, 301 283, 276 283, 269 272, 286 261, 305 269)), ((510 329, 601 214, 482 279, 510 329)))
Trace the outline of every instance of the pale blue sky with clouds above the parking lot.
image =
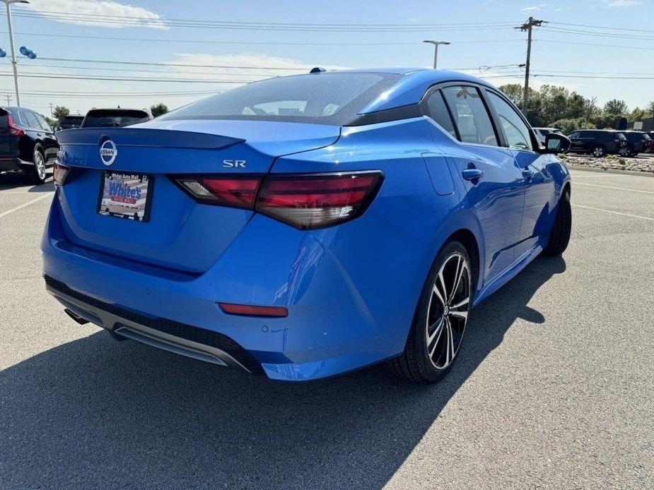
MULTIPOLYGON (((534 16, 530 86, 564 85, 585 97, 654 100, 654 0, 30 0, 11 7, 21 104, 170 109, 269 76, 383 66, 466 71, 494 85, 523 83, 534 16), (183 65, 183 66, 180 66, 183 65), (175 80, 175 81, 171 81, 175 80)), ((0 47, 9 53, 4 6, 0 47)), ((0 101, 15 105, 9 56, 0 101), (7 100, 7 95, 9 99, 7 100)))

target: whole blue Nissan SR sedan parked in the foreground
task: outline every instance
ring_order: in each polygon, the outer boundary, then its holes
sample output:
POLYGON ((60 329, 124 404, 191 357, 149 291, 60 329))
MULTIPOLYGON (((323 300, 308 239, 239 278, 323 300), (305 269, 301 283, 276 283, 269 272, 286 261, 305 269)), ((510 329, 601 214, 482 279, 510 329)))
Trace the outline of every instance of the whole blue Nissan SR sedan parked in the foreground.
POLYGON ((437 381, 472 308, 570 237, 568 138, 463 73, 270 78, 60 134, 41 243, 66 313, 273 379, 437 381))

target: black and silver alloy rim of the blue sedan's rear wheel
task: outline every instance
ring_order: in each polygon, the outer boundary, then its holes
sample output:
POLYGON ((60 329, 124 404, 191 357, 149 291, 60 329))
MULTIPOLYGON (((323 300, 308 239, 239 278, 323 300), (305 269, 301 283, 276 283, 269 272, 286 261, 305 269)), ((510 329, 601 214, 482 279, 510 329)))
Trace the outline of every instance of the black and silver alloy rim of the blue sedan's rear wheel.
POLYGON ((436 369, 446 369, 457 355, 470 306, 470 268, 452 253, 438 270, 427 306, 427 354, 436 369))

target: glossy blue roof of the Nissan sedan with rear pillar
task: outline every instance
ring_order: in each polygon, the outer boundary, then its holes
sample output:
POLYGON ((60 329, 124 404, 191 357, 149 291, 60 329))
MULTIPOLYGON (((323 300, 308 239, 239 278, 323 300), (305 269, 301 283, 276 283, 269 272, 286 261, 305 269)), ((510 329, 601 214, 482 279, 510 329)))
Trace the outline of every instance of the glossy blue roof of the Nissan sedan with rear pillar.
MULTIPOLYGON (((444 82, 468 82, 494 88, 490 83, 467 73, 450 70, 433 70, 431 68, 360 68, 356 70, 339 70, 325 73, 393 73, 402 75, 391 88, 366 105, 359 114, 395 109, 405 105, 420 102, 422 96, 431 85, 444 82)), ((312 76, 320 76, 313 73, 312 76)))

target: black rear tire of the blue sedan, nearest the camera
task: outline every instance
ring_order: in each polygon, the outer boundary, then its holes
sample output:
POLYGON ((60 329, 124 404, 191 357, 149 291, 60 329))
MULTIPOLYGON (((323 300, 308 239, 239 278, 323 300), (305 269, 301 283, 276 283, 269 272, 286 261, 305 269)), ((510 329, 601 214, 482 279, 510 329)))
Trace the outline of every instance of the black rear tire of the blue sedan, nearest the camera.
POLYGON ((445 244, 438 252, 420 294, 404 352, 386 362, 386 367, 392 374, 414 383, 436 383, 452 369, 461 349, 467 313, 472 304, 472 282, 471 262, 465 247, 458 241, 445 244), (454 267, 456 270, 452 274, 454 267), (441 270, 443 281, 440 281, 441 270), (459 272, 460 275, 457 274, 459 272), (455 286, 457 277, 460 277, 460 282, 455 286), (451 283, 452 287, 440 286, 444 283, 451 283), (438 293, 434 292, 435 287, 438 293), (454 292, 448 294, 448 289, 450 293, 452 290, 454 292), (444 303, 438 299, 441 296, 445 297, 444 303), (462 317, 464 313, 465 316, 462 317), (428 342, 430 337, 432 340, 428 342), (451 350, 448 349, 450 345, 451 350), (432 350, 431 355, 429 350, 432 350))

